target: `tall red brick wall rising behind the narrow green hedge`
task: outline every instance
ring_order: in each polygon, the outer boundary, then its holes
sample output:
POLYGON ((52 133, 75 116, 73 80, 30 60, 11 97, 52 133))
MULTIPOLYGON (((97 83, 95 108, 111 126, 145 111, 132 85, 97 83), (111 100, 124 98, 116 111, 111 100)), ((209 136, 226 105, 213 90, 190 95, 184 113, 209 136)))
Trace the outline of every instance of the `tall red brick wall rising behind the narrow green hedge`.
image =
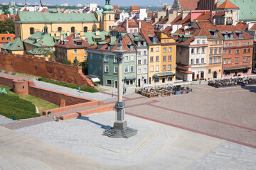
POLYGON ((43 57, 14 55, 0 52, 0 69, 10 72, 32 74, 57 81, 80 86, 95 87, 90 79, 82 74, 82 67, 75 67, 58 62, 48 62, 43 57))

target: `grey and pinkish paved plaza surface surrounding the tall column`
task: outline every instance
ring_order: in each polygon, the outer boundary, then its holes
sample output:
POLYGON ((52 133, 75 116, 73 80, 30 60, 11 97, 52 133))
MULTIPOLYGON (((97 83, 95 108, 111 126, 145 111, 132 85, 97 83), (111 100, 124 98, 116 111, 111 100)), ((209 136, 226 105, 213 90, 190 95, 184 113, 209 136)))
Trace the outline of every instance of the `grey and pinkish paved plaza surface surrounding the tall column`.
MULTIPOLYGON (((14 160, 24 169, 26 162, 41 169, 256 169, 256 86, 189 86, 193 93, 163 98, 125 94, 128 126, 138 130, 128 140, 102 136, 113 125, 114 112, 58 123, 21 121, 15 131, 0 123, 9 128, 0 126, 0 169, 14 160)), ((80 96, 70 89, 65 93, 80 96)), ((90 95, 84 97, 117 101, 111 89, 90 95)))

